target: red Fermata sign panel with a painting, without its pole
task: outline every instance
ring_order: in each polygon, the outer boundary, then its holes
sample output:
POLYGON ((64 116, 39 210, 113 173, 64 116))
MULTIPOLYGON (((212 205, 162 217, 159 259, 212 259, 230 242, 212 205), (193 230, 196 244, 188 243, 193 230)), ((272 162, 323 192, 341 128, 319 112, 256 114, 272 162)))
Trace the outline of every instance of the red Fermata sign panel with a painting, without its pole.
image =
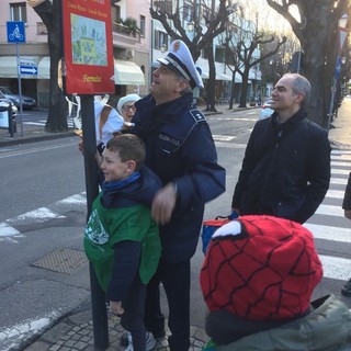
POLYGON ((63 19, 65 93, 113 93, 111 1, 63 1, 63 19))

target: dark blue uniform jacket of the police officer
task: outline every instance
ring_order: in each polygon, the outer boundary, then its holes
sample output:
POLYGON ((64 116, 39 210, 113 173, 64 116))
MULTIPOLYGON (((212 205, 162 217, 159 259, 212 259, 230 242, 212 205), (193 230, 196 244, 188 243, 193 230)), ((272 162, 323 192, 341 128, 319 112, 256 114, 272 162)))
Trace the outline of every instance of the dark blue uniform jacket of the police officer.
POLYGON ((162 260, 182 262, 196 250, 204 205, 225 191, 225 170, 204 115, 192 93, 157 105, 151 95, 136 103, 136 133, 146 146, 146 166, 162 181, 177 183, 171 222, 160 227, 162 260))

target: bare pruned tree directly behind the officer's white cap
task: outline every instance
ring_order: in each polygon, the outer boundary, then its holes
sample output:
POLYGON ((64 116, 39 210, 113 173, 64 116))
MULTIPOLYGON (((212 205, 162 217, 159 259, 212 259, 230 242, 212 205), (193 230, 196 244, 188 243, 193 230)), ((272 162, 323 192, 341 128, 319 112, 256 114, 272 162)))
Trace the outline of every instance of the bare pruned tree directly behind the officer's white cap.
POLYGON ((213 54, 214 38, 226 30, 226 23, 229 21, 229 14, 235 7, 227 0, 212 0, 211 7, 208 1, 155 1, 155 8, 150 8, 151 18, 158 20, 163 25, 166 32, 172 39, 182 39, 189 47, 194 61, 201 55, 202 49, 206 50, 210 60, 208 84, 207 84, 207 110, 215 111, 215 65, 213 54), (217 5, 218 3, 218 5, 217 5), (188 36, 184 21, 191 21, 194 30, 191 37, 188 36), (213 60, 213 64, 211 64, 213 60))

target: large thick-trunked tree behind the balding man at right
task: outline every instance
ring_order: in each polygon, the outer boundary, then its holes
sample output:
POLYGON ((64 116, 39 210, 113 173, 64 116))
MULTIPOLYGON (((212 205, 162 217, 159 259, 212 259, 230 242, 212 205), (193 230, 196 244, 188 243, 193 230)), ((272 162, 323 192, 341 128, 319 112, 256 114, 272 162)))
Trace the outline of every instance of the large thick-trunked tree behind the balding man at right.
POLYGON ((267 0, 291 24, 304 52, 304 75, 313 89, 308 116, 324 127, 328 125, 331 83, 338 45, 338 21, 350 13, 348 0, 267 0), (294 16, 298 10, 299 19, 294 16))

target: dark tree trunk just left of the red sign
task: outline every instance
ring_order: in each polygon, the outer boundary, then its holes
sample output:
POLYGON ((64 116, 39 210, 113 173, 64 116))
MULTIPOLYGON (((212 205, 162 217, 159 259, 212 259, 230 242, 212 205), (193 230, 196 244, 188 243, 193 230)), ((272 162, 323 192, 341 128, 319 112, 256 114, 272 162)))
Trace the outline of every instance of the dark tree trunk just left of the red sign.
POLYGON ((61 1, 27 0, 47 29, 50 56, 49 107, 45 131, 60 133, 68 131, 66 100, 58 86, 58 66, 63 57, 61 1))

